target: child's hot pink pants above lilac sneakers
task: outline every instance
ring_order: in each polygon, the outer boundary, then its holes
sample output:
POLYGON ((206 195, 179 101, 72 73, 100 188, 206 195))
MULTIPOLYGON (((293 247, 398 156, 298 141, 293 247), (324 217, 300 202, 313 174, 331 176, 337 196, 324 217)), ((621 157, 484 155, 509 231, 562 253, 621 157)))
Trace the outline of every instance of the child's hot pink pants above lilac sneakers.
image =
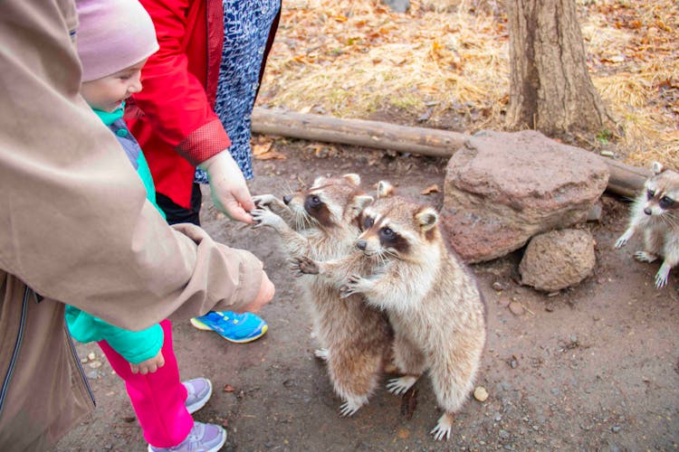
POLYGON ((184 441, 194 421, 186 411, 186 388, 179 381, 177 358, 172 350, 172 325, 169 320, 163 320, 160 326, 165 334, 162 348, 165 365, 153 373, 132 373, 129 363, 106 341, 98 344, 110 366, 125 381, 129 400, 148 444, 173 447, 184 441))

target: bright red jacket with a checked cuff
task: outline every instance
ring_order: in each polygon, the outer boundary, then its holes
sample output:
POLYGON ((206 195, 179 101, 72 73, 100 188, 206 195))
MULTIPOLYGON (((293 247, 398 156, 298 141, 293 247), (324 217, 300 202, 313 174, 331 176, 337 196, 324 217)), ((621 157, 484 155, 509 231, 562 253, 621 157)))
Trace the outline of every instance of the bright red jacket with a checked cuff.
MULTIPOLYGON (((140 0, 153 19, 160 50, 142 71, 144 89, 125 113, 144 150, 156 191, 190 207, 196 165, 231 146, 215 95, 224 43, 222 0, 140 0)), ((271 49, 273 21, 260 71, 271 49)))

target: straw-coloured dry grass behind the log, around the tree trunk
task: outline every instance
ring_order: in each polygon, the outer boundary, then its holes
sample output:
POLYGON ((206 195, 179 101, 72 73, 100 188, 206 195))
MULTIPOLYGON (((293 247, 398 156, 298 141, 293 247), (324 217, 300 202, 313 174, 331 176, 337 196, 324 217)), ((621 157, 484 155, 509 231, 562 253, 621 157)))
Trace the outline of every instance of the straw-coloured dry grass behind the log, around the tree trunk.
MULTIPOLYGON (((578 0, 592 80, 633 165, 679 169, 679 6, 670 0, 578 0)), ((502 129, 509 99, 503 2, 285 0, 258 102, 342 118, 468 132, 502 129), (385 112, 389 112, 386 114, 385 112), (451 118, 463 118, 454 120, 451 118), (459 129, 459 128, 458 128, 459 129)), ((592 147, 610 139, 590 137, 592 147)))

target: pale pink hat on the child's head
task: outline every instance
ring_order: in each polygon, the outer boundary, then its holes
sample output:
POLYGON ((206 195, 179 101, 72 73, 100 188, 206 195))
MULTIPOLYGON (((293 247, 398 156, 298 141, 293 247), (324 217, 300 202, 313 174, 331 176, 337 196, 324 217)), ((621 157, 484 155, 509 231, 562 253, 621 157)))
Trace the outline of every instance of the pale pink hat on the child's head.
POLYGON ((138 0, 77 0, 82 80, 121 71, 158 51, 156 29, 138 0))

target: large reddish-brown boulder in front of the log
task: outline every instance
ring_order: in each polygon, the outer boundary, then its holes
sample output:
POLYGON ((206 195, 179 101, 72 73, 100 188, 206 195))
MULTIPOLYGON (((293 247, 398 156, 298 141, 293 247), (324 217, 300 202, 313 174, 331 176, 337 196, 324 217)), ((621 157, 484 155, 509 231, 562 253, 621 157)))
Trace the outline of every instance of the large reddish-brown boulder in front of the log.
POLYGON ((454 250, 481 262, 587 218, 607 165, 539 132, 482 131, 448 161, 442 216, 454 250))

